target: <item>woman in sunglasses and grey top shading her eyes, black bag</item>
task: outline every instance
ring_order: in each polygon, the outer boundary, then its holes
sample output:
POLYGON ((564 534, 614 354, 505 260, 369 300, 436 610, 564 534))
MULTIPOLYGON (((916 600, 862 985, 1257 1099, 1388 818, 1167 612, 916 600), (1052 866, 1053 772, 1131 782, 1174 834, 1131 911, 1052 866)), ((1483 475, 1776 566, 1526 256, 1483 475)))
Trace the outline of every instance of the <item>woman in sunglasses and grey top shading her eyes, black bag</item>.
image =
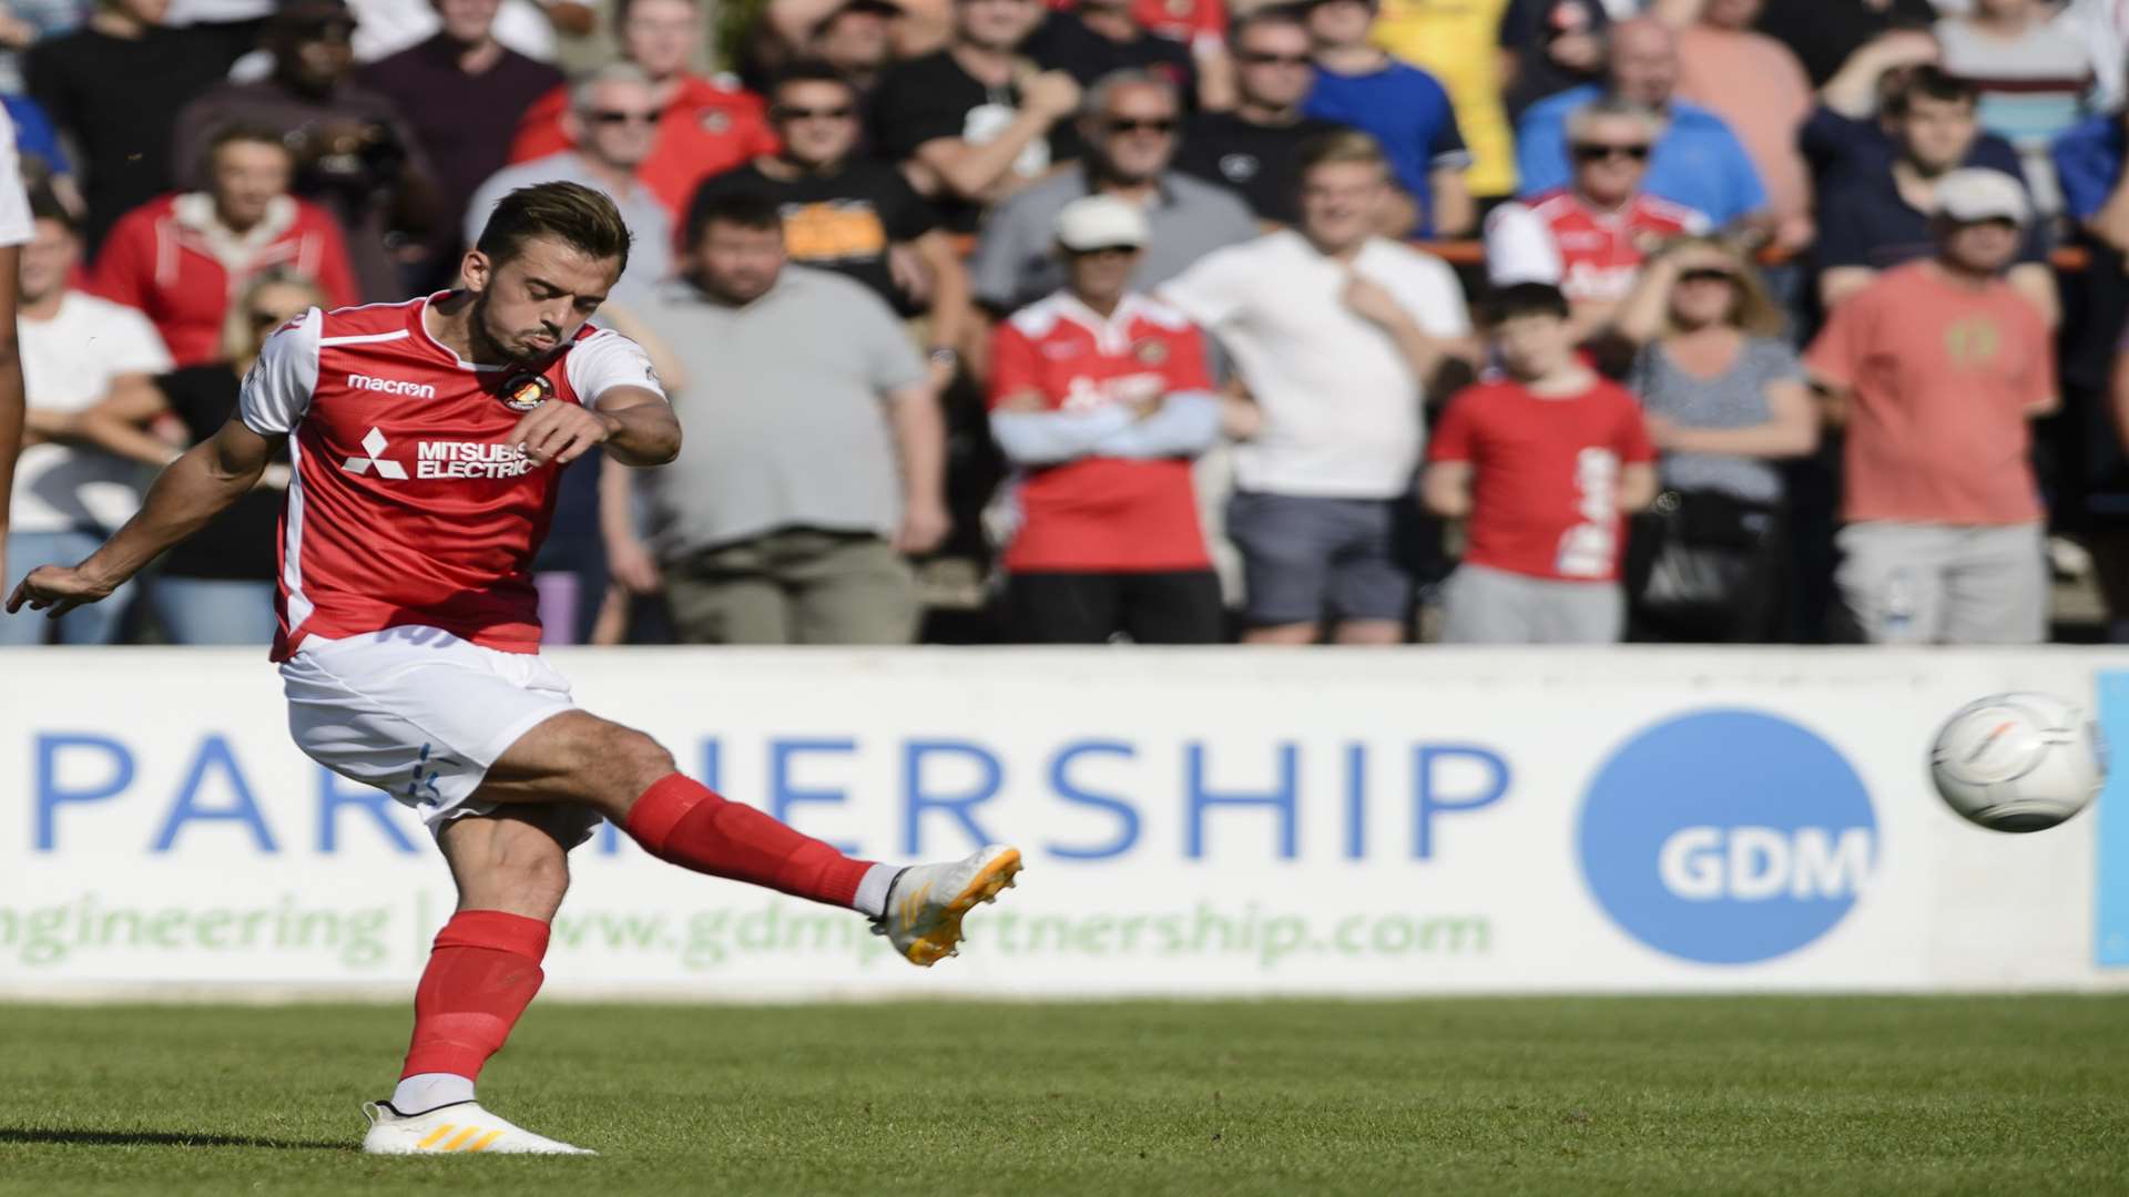
POLYGON ((1771 641, 1786 547, 1776 462, 1818 447, 1782 309, 1737 249, 1690 239, 1648 264, 1618 324, 1648 341, 1627 386, 1663 486, 1627 547, 1631 639, 1771 641))

